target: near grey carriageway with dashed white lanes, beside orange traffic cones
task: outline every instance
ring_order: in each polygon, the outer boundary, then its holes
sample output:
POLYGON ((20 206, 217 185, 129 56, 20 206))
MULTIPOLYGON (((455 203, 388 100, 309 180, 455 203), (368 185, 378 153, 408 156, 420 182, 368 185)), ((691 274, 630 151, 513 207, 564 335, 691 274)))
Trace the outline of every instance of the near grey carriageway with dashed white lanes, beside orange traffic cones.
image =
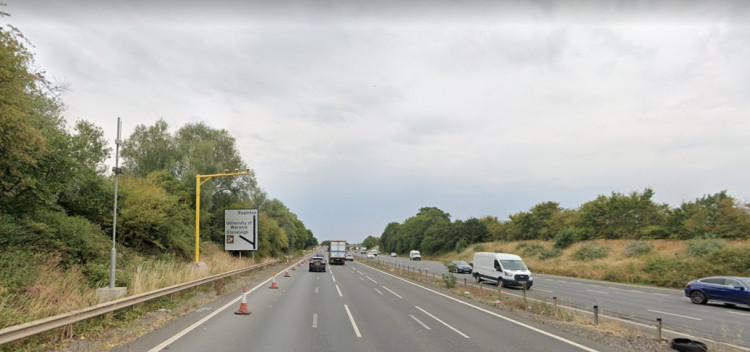
POLYGON ((115 351, 617 351, 360 262, 306 264, 248 287, 250 315, 233 292, 115 351))

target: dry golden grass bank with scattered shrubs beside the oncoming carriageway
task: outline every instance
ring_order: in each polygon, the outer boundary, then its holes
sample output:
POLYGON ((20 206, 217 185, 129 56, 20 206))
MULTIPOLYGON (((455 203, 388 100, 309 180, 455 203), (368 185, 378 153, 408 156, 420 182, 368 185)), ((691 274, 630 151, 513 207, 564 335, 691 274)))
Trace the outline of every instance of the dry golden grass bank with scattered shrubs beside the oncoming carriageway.
POLYGON ((666 288, 682 288, 704 276, 750 275, 748 240, 595 240, 562 250, 555 248, 553 241, 497 241, 429 259, 470 262, 475 252, 518 254, 539 274, 666 288))

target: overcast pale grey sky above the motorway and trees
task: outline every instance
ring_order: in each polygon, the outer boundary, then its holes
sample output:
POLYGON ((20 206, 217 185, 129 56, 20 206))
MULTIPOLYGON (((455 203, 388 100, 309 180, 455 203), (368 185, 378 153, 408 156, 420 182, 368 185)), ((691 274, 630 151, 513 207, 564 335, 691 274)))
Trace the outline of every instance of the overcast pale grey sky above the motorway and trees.
POLYGON ((321 241, 426 206, 750 201, 747 1, 5 2, 69 125, 226 129, 321 241))

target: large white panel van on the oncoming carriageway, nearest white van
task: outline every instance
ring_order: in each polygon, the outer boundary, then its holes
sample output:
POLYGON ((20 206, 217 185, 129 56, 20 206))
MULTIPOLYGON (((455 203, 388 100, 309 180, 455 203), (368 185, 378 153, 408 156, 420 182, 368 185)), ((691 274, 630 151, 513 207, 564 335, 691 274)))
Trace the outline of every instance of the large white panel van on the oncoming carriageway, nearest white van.
POLYGON ((526 263, 515 254, 477 252, 473 264, 471 275, 477 282, 489 279, 505 287, 526 286, 527 290, 534 284, 526 263))

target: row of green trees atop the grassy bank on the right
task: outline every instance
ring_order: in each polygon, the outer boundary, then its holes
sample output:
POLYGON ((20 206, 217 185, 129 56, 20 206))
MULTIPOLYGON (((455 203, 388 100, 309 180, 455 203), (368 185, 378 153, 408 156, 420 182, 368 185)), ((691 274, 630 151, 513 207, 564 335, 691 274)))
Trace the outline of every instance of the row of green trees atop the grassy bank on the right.
POLYGON ((555 241, 562 246, 594 239, 743 239, 750 238, 750 204, 721 191, 679 207, 653 201, 654 191, 600 195, 576 209, 542 202, 528 211, 497 217, 451 221, 435 208, 419 209, 403 223, 389 223, 380 235, 383 252, 460 252, 488 241, 555 241))

